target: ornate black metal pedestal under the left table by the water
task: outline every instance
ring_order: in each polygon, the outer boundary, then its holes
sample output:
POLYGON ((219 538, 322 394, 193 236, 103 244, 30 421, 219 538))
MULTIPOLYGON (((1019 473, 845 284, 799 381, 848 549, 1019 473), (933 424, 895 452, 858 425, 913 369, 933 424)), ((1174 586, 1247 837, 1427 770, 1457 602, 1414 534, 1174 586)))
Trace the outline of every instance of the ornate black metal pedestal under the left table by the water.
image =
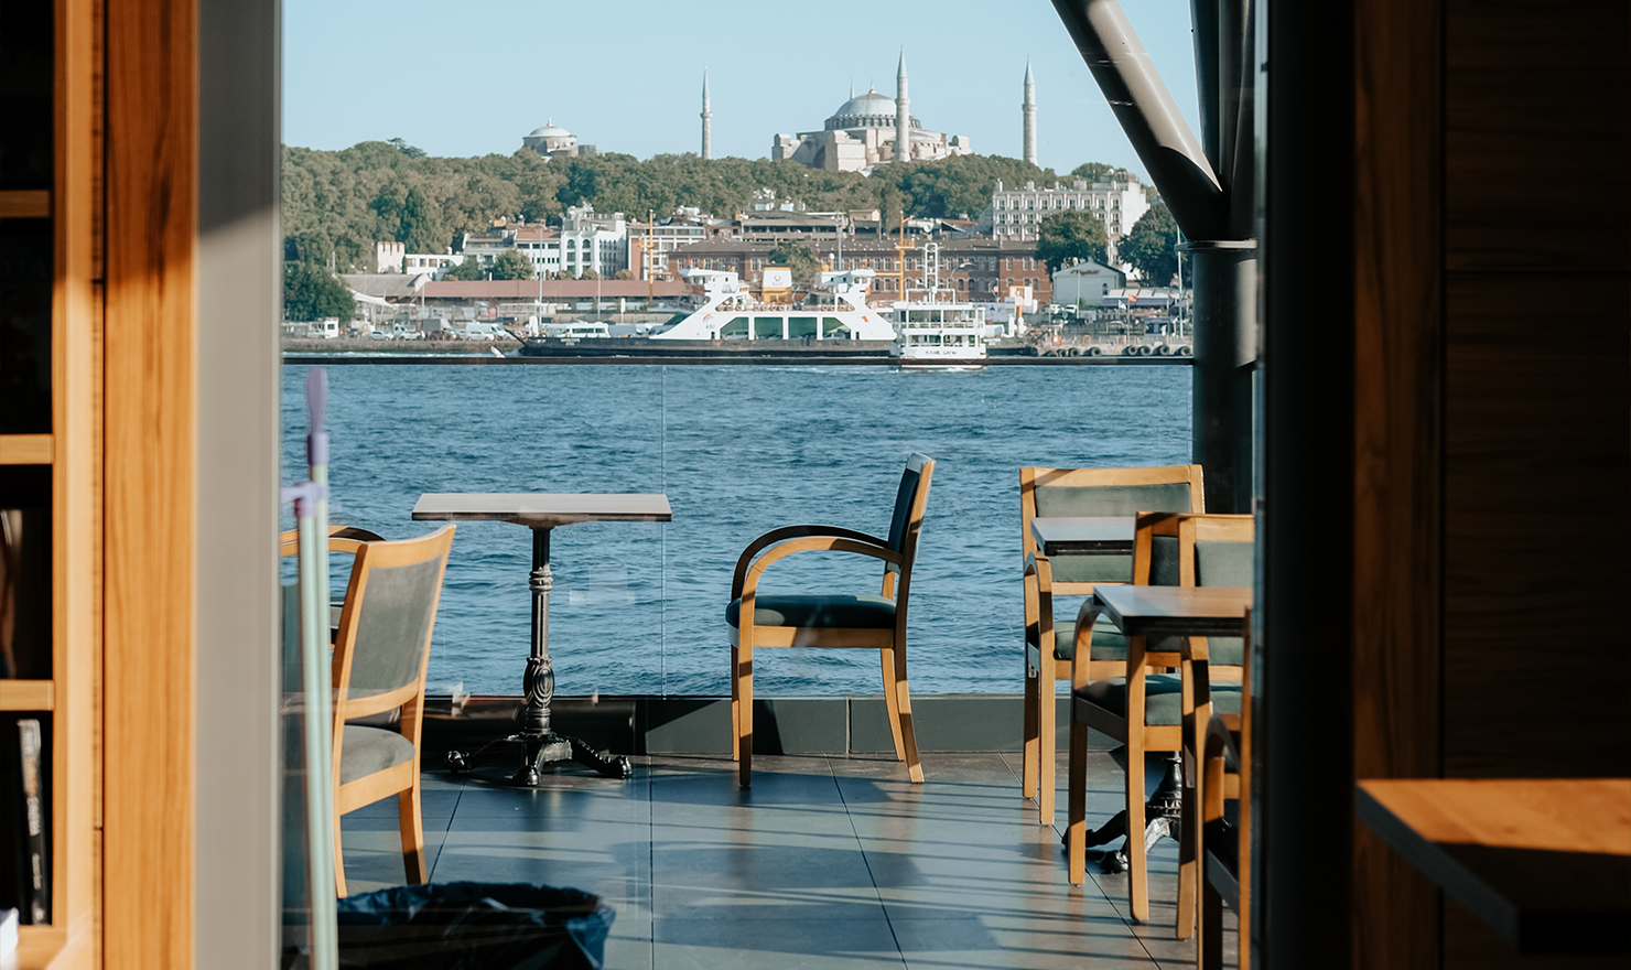
POLYGON ((520 730, 509 737, 491 740, 473 753, 449 752, 447 766, 470 771, 499 756, 506 748, 520 748, 522 763, 511 776, 519 786, 537 786, 540 773, 550 765, 577 761, 607 778, 628 778, 634 773, 628 758, 597 752, 576 737, 555 734, 550 725, 550 703, 555 699, 555 667, 550 662, 550 589, 555 572, 550 571, 550 528, 532 530, 532 572, 527 589, 532 592, 532 652, 527 657, 527 673, 522 691, 527 703, 515 714, 520 730))

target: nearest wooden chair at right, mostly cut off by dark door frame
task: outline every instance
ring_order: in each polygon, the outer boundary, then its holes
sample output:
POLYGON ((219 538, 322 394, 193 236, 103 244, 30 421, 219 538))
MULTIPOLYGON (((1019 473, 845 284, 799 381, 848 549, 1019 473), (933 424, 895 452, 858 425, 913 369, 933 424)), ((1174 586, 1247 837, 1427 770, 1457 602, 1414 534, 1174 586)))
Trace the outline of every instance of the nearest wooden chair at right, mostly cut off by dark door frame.
MULTIPOLYGON (((1240 970, 1251 970, 1251 610, 1241 628, 1240 712, 1213 712, 1200 737, 1200 825, 1196 828, 1196 856, 1200 859, 1200 942, 1196 967, 1223 968, 1223 903, 1235 908, 1240 924, 1240 970), (1227 802, 1236 802, 1236 817, 1227 820, 1227 802)), ((1207 698, 1199 667, 1205 657, 1194 654, 1196 708, 1207 698)), ((1199 716, 1197 716, 1199 717, 1199 716)))

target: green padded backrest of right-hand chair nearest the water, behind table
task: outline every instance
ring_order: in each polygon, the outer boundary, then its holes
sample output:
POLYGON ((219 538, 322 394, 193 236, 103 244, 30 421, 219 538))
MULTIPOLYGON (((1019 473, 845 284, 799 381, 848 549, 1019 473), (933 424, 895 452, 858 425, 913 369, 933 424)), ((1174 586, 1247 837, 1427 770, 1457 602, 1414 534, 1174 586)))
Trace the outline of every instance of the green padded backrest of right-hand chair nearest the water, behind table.
MULTIPOLYGON (((1199 465, 1153 468, 1021 468, 1019 548, 1036 554, 1036 517, 1205 512, 1199 465)), ((1055 584, 1130 582, 1132 556, 1055 556, 1055 584)))

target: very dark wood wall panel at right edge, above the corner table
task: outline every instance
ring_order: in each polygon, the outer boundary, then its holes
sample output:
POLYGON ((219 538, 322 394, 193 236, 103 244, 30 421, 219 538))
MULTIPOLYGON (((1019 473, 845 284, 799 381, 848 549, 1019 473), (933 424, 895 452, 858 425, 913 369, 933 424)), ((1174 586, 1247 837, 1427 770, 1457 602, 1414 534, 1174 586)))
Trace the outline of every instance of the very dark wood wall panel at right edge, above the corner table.
POLYGON ((1628 774, 1631 7, 1445 36, 1445 771, 1628 774))

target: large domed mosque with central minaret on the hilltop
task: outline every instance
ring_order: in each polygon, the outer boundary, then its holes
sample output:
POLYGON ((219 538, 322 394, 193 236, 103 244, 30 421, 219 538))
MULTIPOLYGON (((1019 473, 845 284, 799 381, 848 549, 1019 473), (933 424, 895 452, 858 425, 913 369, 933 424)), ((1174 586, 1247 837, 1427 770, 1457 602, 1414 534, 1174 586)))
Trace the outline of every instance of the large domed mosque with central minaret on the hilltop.
POLYGON ((887 161, 935 161, 972 152, 967 135, 926 130, 922 121, 912 117, 910 106, 902 52, 894 99, 876 90, 856 98, 851 88, 850 99, 838 106, 822 130, 776 135, 770 157, 827 171, 863 171, 887 161), (905 145, 904 152, 900 145, 905 145))

